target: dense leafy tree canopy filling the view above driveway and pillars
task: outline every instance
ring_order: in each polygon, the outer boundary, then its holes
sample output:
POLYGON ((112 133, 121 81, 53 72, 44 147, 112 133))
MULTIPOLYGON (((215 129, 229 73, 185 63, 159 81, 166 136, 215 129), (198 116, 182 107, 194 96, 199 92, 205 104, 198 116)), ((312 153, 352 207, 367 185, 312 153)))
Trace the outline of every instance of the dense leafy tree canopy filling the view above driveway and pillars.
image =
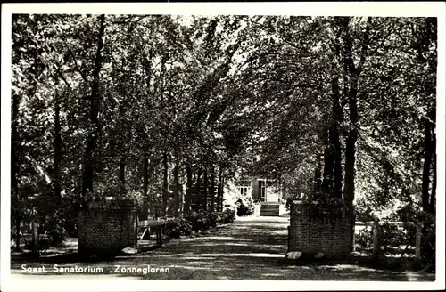
POLYGON ((434 213, 436 26, 14 15, 12 223, 68 228, 109 196, 143 217, 221 211, 241 170, 360 213, 434 213))

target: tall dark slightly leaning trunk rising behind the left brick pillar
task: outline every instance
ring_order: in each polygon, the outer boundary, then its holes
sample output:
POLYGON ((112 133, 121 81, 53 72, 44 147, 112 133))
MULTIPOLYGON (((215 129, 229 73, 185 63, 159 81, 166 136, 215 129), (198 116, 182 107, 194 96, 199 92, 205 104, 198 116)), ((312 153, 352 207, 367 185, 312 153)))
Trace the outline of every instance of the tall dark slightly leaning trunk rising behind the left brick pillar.
POLYGON ((93 191, 93 181, 95 175, 95 167, 97 158, 95 157, 95 150, 97 148, 97 140, 100 132, 98 114, 101 107, 101 93, 99 91, 99 73, 101 71, 102 50, 103 50, 103 32, 105 29, 105 16, 100 16, 100 29, 97 42, 97 50, 95 54, 95 67, 93 70, 92 95, 90 103, 89 119, 92 130, 87 136, 87 145, 83 161, 82 173, 82 195, 85 196, 88 191, 93 191))

